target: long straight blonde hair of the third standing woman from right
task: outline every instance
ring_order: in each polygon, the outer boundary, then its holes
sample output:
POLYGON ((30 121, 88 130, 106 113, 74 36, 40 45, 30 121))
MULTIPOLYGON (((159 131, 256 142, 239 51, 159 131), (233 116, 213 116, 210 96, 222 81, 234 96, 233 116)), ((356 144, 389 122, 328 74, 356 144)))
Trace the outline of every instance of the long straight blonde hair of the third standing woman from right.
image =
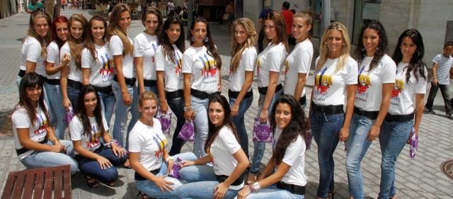
POLYGON ((343 67, 345 67, 345 63, 348 60, 348 57, 350 57, 351 42, 349 39, 348 30, 346 30, 345 25, 339 22, 333 22, 331 23, 331 25, 328 25, 328 28, 326 32, 324 32, 323 38, 321 40, 321 45, 319 46, 319 61, 318 64, 316 64, 316 70, 321 69, 321 67, 326 64, 326 61, 328 59, 329 51, 327 46, 327 39, 328 34, 331 32, 331 30, 340 31, 344 41, 343 45, 341 46, 341 54, 340 57, 338 57, 335 72, 333 72, 335 74, 336 72, 343 69, 343 67))

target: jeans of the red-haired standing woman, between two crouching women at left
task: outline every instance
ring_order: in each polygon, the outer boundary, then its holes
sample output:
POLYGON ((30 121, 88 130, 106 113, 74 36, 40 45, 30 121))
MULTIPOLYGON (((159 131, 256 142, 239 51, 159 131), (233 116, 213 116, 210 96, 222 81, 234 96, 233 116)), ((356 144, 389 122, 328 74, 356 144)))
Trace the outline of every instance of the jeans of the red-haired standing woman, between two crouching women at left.
POLYGON ((50 113, 50 123, 52 125, 57 125, 55 127, 55 136, 59 140, 64 139, 64 130, 66 129, 66 125, 64 125, 64 110, 63 102, 62 102, 62 89, 60 89, 59 85, 52 85, 52 84, 44 84, 45 91, 47 93, 47 106, 49 107, 50 113))

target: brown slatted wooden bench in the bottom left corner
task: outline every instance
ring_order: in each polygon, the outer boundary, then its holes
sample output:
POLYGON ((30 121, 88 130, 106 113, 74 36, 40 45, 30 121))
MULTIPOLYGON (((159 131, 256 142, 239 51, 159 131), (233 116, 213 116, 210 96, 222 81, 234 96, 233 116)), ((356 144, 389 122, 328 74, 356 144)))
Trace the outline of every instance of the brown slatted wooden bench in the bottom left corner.
POLYGON ((72 198, 69 165, 9 173, 1 199, 72 198))

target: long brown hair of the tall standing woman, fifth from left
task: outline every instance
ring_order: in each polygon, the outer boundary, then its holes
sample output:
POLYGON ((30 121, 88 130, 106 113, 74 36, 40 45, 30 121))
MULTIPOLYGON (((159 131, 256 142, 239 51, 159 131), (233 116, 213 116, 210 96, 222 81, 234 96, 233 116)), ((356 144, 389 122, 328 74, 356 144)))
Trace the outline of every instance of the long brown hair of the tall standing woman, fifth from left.
POLYGON ((107 29, 107 40, 110 41, 113 35, 117 35, 123 45, 124 50, 122 51, 122 57, 125 57, 127 54, 132 55, 132 51, 134 50, 134 46, 130 42, 129 38, 127 38, 127 33, 123 31, 120 26, 118 26, 118 22, 120 21, 120 14, 122 12, 127 11, 130 15, 130 8, 126 4, 117 4, 113 7, 112 13, 110 13, 110 18, 108 20, 108 29, 107 29))

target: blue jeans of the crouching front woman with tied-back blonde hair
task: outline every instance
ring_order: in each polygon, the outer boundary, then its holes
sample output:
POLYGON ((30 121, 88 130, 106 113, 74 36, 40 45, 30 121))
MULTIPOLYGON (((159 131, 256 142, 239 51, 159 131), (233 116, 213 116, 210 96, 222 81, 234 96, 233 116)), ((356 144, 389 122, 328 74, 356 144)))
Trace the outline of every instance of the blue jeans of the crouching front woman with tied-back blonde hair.
MULTIPOLYGON (((183 153, 183 154, 177 154, 175 156, 173 156, 173 159, 177 159, 177 158, 180 158, 180 159, 184 159, 184 160, 195 160, 197 159, 197 157, 195 157, 195 154, 193 153, 183 153)), ((159 174, 156 174, 156 176, 164 176, 166 174, 168 170, 168 165, 167 163, 164 161, 164 163, 162 163, 161 165, 161 169, 159 171, 159 174)), ((175 178, 171 178, 171 177, 166 177, 166 179, 168 180, 173 180, 173 181, 178 181, 176 180, 175 178)), ((156 184, 154 184, 154 182, 152 181, 148 181, 148 180, 144 180, 144 181, 135 181, 136 183, 136 186, 137 186, 137 189, 139 191, 141 191, 142 193, 148 195, 149 197, 153 197, 153 198, 168 198, 168 199, 172 199, 172 198, 178 198, 178 193, 176 193, 176 190, 178 188, 178 186, 181 185, 181 183, 175 183, 171 186, 171 188, 173 188, 173 191, 171 192, 162 192, 161 191, 161 188, 159 188, 158 186, 156 186, 156 184)))

